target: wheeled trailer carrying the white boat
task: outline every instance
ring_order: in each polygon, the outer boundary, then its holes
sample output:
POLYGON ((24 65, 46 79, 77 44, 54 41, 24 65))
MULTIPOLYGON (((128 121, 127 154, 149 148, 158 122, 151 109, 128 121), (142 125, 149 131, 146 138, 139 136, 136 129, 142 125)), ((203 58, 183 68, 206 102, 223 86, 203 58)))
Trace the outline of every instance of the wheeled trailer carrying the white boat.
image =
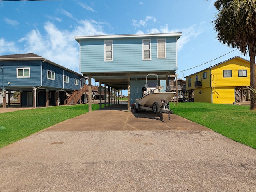
MULTIPOLYGON (((135 113, 138 112, 139 109, 144 109, 147 111, 153 111, 154 114, 163 114, 163 113, 168 113, 169 115, 169 120, 171 119, 170 114, 173 114, 173 111, 170 110, 169 108, 169 102, 166 102, 165 100, 162 101, 162 106, 160 107, 157 102, 153 103, 152 107, 146 107, 146 106, 140 106, 138 103, 133 103, 132 104, 135 113)), ((160 120, 163 120, 163 116, 161 115, 160 120)))

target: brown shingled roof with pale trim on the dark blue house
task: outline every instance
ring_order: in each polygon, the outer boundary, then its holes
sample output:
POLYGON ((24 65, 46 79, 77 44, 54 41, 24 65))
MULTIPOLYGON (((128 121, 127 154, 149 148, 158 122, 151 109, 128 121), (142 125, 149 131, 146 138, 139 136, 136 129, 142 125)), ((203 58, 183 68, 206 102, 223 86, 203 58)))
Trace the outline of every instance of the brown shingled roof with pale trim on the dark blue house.
POLYGON ((82 74, 72 71, 64 66, 61 66, 59 64, 56 64, 50 60, 47 60, 46 58, 43 58, 42 56, 39 56, 37 54, 34 53, 24 53, 24 54, 13 54, 13 55, 0 55, 0 61, 17 61, 17 60, 41 60, 41 61, 46 61, 54 66, 57 66, 59 68, 62 69, 66 69, 72 73, 78 74, 80 76, 82 76, 82 74))

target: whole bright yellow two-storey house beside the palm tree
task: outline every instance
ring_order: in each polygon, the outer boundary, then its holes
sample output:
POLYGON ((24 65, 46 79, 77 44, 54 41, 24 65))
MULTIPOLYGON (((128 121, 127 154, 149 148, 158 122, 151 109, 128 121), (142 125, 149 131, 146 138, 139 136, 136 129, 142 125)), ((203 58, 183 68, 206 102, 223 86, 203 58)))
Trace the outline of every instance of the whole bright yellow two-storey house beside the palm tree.
POLYGON ((239 56, 186 76, 186 90, 194 91, 194 102, 233 104, 249 95, 250 61, 239 56))

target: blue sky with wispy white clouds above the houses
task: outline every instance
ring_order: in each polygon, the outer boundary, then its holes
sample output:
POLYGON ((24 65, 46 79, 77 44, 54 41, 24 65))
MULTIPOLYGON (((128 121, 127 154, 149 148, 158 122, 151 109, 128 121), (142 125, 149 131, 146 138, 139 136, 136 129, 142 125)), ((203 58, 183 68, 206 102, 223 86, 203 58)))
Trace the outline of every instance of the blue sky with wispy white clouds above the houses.
POLYGON ((74 36, 182 32, 178 78, 234 56, 250 60, 216 39, 211 23, 217 13, 215 1, 2 1, 0 55, 33 52, 79 72, 79 44, 74 36), (199 67, 187 70, 195 66, 199 67))

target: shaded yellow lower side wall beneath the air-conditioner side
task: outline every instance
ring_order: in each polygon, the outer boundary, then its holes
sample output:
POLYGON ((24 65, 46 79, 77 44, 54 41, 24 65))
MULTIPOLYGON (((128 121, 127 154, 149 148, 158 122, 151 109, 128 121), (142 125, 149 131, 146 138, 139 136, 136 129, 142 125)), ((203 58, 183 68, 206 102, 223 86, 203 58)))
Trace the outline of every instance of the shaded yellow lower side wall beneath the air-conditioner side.
POLYGON ((211 103, 212 88, 208 87, 194 89, 194 102, 211 103))

